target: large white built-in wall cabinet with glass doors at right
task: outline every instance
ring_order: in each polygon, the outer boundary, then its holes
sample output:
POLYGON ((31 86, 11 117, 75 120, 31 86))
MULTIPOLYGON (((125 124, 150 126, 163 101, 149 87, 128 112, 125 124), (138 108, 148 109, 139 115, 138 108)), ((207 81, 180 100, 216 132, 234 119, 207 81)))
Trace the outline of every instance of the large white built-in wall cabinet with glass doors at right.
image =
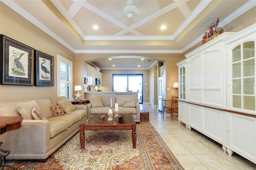
POLYGON ((230 156, 234 151, 254 163, 255 43, 256 24, 223 33, 177 63, 179 122, 216 140, 230 156))

